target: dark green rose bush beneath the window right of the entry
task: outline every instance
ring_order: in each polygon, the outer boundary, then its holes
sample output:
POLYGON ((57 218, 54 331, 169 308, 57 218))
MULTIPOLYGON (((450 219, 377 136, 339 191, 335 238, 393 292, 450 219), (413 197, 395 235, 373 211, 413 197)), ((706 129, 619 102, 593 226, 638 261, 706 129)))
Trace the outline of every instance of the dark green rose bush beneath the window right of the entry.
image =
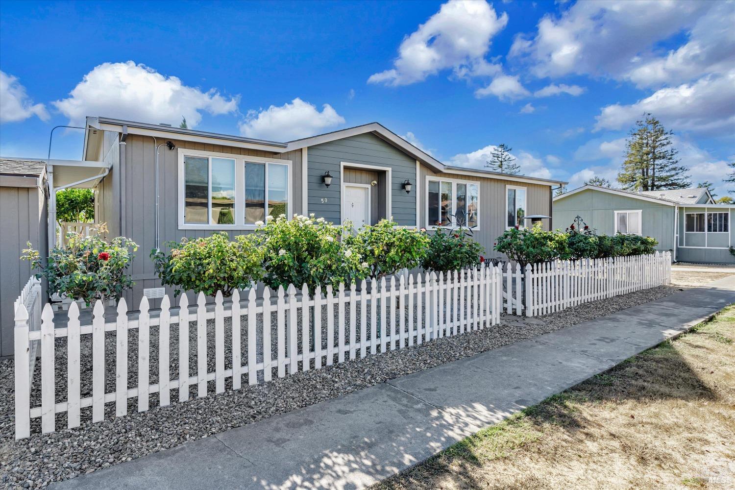
POLYGON ((459 270, 484 262, 481 254, 485 248, 476 242, 465 228, 448 231, 437 228, 429 237, 429 251, 423 260, 423 268, 437 272, 459 270))

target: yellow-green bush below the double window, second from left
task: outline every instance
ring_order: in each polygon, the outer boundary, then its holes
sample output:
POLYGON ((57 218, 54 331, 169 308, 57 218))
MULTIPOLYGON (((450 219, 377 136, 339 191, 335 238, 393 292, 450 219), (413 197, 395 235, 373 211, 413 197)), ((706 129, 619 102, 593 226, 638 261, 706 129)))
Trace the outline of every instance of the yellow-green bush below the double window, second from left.
POLYGON ((166 242, 168 253, 151 251, 156 272, 161 282, 183 291, 204 292, 226 297, 234 289, 244 289, 263 277, 263 253, 248 235, 239 235, 234 241, 221 231, 211 237, 182 239, 166 242))

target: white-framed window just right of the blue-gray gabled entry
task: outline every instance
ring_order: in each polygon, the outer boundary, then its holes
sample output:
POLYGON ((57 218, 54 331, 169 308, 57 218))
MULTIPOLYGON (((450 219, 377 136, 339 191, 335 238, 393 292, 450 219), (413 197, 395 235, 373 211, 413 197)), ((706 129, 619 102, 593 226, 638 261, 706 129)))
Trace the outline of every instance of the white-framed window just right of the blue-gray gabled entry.
POLYGON ((479 210, 479 182, 426 177, 426 228, 479 229, 479 210))

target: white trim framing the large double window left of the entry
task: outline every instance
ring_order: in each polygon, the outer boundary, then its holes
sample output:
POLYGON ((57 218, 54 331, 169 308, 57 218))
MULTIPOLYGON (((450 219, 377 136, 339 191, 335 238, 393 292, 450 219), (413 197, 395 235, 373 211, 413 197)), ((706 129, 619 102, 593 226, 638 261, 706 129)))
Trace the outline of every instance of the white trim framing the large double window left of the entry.
MULTIPOLYGON (((287 199, 288 206, 286 217, 291 218, 293 215, 293 162, 291 160, 282 160, 278 158, 264 158, 262 156, 248 156, 248 155, 236 155, 229 153, 218 153, 216 151, 201 151, 201 150, 189 150, 187 148, 178 149, 178 172, 179 172, 179 230, 254 230, 257 226, 252 224, 245 224, 245 163, 272 163, 275 165, 286 165, 288 167, 288 185, 287 185, 287 199), (184 156, 197 156, 203 158, 227 158, 234 159, 234 224, 232 225, 204 225, 197 223, 184 223, 184 156)), ((209 173, 212 173, 212 165, 209 165, 209 173)), ((209 186, 212 185, 211 175, 209 176, 209 186)), ((268 202, 268 182, 265 184, 265 198, 266 203, 268 202)), ((210 205, 211 206, 211 203, 210 205)), ((212 219, 211 209, 207 212, 209 219, 212 219)))

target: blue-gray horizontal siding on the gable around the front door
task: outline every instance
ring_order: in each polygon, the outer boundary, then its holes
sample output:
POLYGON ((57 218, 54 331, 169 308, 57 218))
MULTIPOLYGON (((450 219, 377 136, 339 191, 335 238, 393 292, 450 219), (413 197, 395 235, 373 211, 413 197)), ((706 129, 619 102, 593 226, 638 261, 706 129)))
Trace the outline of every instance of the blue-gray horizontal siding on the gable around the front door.
MULTIPOLYGON (((416 226, 416 159, 385 142, 375 134, 365 133, 340 140, 309 146, 308 212, 334 223, 341 223, 341 190, 343 164, 350 170, 361 165, 389 167, 391 170, 391 212, 399 226, 416 226), (332 176, 331 185, 322 181, 324 173, 332 176), (408 179, 414 188, 408 194, 403 188, 408 179)), ((364 169, 376 171, 373 169, 364 169)), ((385 173, 377 171, 377 173, 385 173)), ((349 178, 346 181, 350 181, 349 178)), ((379 180, 380 182, 380 180, 379 180)), ((373 208, 374 209, 374 208, 373 208)))

